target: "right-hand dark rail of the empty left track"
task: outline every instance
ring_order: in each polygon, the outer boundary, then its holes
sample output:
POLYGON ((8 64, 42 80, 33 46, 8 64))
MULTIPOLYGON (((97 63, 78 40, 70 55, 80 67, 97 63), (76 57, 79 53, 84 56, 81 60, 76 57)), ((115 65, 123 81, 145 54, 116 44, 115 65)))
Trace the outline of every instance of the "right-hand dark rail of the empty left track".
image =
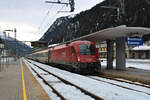
MULTIPOLYGON (((28 62, 30 62, 30 61, 28 61, 28 62)), ((32 63, 32 62, 30 62, 30 63, 32 63)), ((87 94, 87 95, 89 95, 89 96, 95 98, 95 100, 104 100, 103 98, 101 98, 101 97, 99 97, 99 96, 97 96, 97 95, 95 95, 95 94, 93 94, 93 93, 91 93, 91 92, 89 92, 89 91, 87 91, 87 90, 85 90, 85 89, 83 89, 83 88, 81 88, 81 87, 79 87, 79 86, 77 86, 77 85, 75 85, 75 84, 73 84, 73 83, 71 83, 71 82, 69 82, 69 81, 63 79, 63 78, 61 78, 61 77, 59 77, 59 76, 57 76, 56 74, 53 74, 53 73, 51 73, 50 71, 47 71, 47 70, 45 70, 44 68, 41 68, 41 67, 38 66, 37 64, 34 64, 34 63, 32 63, 32 64, 35 65, 35 66, 37 66, 37 67, 40 68, 41 70, 43 70, 43 71, 45 71, 45 72, 47 72, 47 73, 49 73, 49 74, 51 74, 51 75, 57 77, 58 79, 60 79, 60 80, 63 81, 64 83, 70 84, 70 85, 72 85, 72 86, 74 86, 74 87, 80 89, 80 90, 81 90, 82 92, 84 92, 85 94, 87 94)))

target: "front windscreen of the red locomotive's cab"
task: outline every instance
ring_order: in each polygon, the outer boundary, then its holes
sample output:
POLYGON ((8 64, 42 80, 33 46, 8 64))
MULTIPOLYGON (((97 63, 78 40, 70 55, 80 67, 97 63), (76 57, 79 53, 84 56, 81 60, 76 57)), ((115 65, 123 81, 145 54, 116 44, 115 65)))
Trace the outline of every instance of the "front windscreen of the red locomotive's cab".
POLYGON ((78 48, 79 48, 79 54, 81 55, 95 55, 96 54, 94 45, 79 44, 78 48))

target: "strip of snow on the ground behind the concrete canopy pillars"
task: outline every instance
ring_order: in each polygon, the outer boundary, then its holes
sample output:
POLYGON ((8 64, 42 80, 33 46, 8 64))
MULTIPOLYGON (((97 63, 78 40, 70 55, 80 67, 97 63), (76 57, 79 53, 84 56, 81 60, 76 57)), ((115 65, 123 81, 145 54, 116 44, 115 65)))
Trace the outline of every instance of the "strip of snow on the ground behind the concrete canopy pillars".
MULTIPOLYGON (((101 65, 106 66, 106 59, 101 60, 101 65)), ((116 66, 116 60, 114 60, 113 66, 116 66)), ((150 70, 150 59, 126 59, 126 67, 135 67, 139 69, 150 70)))

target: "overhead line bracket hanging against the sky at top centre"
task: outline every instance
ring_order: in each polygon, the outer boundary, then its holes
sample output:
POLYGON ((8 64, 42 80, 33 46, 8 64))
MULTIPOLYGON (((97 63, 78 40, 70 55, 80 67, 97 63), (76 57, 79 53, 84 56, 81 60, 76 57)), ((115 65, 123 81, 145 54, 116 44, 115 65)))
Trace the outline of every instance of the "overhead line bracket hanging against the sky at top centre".
POLYGON ((45 3, 53 3, 53 4, 65 4, 70 5, 70 11, 59 11, 59 12, 73 12, 74 11, 74 0, 69 0, 69 2, 61 2, 60 0, 57 1, 45 1, 45 3))

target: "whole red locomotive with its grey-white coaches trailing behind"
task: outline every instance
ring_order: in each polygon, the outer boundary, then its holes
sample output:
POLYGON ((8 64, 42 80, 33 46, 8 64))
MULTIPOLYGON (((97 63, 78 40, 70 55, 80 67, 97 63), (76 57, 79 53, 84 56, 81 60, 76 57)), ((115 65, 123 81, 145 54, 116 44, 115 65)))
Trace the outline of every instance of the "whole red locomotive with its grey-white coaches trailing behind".
POLYGON ((100 72, 98 51, 91 41, 74 41, 49 47, 29 55, 30 59, 55 65, 81 74, 100 72))

